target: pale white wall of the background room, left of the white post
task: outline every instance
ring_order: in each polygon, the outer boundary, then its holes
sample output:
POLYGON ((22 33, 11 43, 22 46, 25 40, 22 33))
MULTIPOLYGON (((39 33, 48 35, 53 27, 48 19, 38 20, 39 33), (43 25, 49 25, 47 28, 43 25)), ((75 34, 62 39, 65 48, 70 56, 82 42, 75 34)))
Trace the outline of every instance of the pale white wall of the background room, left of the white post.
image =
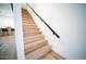
POLYGON ((13 12, 10 3, 0 3, 0 27, 14 27, 13 12))

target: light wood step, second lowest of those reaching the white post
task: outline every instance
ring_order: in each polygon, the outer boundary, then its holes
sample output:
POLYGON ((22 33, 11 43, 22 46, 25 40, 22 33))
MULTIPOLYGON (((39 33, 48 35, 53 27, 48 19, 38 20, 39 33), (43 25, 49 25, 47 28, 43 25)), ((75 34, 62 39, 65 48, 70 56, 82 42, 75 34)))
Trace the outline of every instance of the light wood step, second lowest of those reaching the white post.
POLYGON ((27 54, 28 52, 32 52, 38 48, 41 48, 42 46, 47 44, 47 40, 39 40, 39 41, 35 41, 32 43, 26 43, 25 47, 25 54, 27 54))

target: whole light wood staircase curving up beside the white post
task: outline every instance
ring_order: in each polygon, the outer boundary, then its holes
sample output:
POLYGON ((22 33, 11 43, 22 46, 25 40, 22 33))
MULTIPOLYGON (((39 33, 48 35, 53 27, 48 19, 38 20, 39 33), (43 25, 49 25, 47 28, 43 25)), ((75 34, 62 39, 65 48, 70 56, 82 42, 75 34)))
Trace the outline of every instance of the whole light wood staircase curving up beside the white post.
POLYGON ((24 51, 26 60, 64 60, 53 52, 27 10, 22 9, 24 51))

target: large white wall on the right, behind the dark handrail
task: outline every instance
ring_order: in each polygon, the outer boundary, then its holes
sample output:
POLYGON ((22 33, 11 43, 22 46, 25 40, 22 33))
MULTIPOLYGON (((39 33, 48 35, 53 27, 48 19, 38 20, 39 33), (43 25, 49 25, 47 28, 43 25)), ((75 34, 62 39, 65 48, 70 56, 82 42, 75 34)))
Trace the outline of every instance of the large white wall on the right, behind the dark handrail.
POLYGON ((66 59, 86 59, 86 4, 30 5, 60 35, 61 38, 57 39, 32 13, 56 52, 66 59))

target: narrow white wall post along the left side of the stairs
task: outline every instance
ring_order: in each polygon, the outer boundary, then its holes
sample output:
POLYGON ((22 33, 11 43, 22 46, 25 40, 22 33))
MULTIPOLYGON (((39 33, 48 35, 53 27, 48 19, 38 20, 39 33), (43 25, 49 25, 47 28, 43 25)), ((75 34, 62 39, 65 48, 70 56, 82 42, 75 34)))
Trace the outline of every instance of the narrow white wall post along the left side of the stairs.
POLYGON ((13 3, 14 25, 15 25, 15 43, 17 59, 24 60, 24 42, 23 42, 23 26, 22 26, 22 10, 20 3, 13 3))

